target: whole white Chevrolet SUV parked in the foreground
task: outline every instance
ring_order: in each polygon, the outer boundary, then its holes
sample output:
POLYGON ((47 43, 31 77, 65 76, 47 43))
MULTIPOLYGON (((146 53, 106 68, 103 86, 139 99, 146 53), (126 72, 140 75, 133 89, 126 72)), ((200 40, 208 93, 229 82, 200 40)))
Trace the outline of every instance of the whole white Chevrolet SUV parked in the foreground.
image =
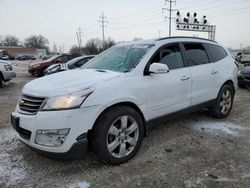
POLYGON ((111 164, 131 159, 147 130, 177 113, 231 111, 237 66, 206 39, 172 37, 118 44, 71 70, 27 83, 12 125, 49 157, 82 157, 87 148, 111 164))

